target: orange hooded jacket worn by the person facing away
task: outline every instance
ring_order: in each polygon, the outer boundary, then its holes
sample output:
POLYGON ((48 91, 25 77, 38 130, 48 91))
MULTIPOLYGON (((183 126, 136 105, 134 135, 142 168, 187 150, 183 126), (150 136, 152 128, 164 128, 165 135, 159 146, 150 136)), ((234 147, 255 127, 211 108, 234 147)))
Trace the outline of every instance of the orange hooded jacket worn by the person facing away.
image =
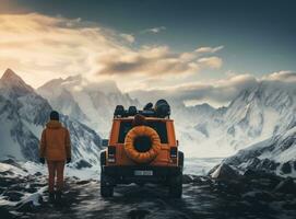
POLYGON ((64 161, 71 158, 69 130, 58 120, 46 124, 42 135, 39 155, 51 161, 64 161))

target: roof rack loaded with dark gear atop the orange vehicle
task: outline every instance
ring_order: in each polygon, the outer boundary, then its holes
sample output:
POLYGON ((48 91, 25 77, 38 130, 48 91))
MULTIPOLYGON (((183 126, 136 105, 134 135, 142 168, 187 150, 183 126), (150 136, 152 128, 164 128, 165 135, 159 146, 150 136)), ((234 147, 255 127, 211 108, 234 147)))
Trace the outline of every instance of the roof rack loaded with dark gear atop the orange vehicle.
POLYGON ((168 105, 167 101, 158 100, 155 104, 155 107, 153 107, 152 103, 149 103, 142 111, 137 110, 135 106, 129 106, 128 110, 125 110, 122 105, 117 105, 114 111, 115 118, 135 116, 137 114, 143 115, 145 117, 169 118, 170 106, 168 105))

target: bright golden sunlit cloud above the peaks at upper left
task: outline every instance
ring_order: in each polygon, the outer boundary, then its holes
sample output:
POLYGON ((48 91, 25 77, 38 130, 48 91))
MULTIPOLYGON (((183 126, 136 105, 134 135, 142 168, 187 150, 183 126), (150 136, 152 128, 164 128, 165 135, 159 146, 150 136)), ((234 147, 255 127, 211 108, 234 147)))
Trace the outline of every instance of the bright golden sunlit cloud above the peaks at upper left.
POLYGON ((37 13, 0 15, 0 35, 1 70, 11 67, 34 87, 91 72, 96 54, 121 47, 109 30, 37 13))

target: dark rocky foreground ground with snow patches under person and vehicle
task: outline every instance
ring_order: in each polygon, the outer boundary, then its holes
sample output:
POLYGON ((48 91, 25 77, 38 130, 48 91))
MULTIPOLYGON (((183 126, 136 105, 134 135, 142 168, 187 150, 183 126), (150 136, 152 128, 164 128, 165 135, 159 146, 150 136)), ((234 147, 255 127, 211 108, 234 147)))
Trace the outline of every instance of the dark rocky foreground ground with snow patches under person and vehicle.
MULTIPOLYGON (((189 172, 203 173, 211 164, 187 161, 189 172), (194 165, 191 165, 191 164, 194 165)), ((48 203, 45 165, 0 163, 1 218, 283 218, 294 219, 296 194, 274 192, 279 176, 212 180, 185 175, 181 199, 171 199, 166 187, 117 186, 115 197, 99 195, 98 171, 67 169, 62 205, 48 203), (82 178, 76 177, 82 172, 82 178)), ((226 173, 227 175, 227 173, 226 173)))

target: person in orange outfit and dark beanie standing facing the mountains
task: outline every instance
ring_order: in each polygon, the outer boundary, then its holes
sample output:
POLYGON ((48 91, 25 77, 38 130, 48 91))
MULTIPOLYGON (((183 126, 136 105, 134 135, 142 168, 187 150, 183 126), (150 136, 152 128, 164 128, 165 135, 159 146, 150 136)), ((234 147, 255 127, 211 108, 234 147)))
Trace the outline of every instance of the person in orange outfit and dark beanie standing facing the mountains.
POLYGON ((52 111, 50 120, 43 130, 39 149, 40 162, 47 161, 48 192, 50 201, 60 201, 63 189, 64 163, 71 162, 71 142, 69 130, 59 122, 59 113, 52 111), (55 180, 57 189, 55 193, 55 180))

